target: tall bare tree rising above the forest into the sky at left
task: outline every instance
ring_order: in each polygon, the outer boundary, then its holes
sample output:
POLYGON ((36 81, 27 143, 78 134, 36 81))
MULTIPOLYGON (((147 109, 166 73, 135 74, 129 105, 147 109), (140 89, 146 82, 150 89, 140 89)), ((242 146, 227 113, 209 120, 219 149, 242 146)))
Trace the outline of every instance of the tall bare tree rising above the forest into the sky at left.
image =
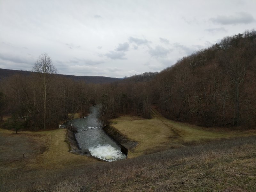
POLYGON ((40 85, 42 89, 42 99, 44 105, 44 115, 43 115, 43 124, 44 129, 46 128, 46 108, 47 108, 47 94, 49 88, 53 83, 53 74, 57 74, 57 69, 52 65, 52 59, 47 53, 43 53, 39 56, 38 60, 33 67, 33 71, 37 72, 40 80, 40 85))

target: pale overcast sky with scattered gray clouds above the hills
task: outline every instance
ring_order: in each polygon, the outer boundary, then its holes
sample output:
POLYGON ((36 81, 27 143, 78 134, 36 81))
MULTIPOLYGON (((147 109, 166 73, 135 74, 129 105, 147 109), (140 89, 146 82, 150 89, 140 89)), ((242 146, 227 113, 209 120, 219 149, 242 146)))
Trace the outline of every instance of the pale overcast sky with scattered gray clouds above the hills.
POLYGON ((224 36, 256 28, 256 0, 0 0, 0 68, 60 74, 161 71, 224 36))

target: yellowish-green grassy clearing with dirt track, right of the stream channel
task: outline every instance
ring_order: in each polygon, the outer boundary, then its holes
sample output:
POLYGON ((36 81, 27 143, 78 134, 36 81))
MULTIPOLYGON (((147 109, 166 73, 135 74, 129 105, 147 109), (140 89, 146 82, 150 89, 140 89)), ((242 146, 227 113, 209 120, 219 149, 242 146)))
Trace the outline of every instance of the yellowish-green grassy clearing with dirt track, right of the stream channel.
POLYGON ((224 131, 174 122, 154 108, 151 108, 151 116, 152 119, 134 117, 133 120, 131 116, 123 116, 112 120, 116 123, 113 127, 131 140, 138 141, 137 147, 129 152, 129 158, 192 143, 256 135, 255 131, 224 131))

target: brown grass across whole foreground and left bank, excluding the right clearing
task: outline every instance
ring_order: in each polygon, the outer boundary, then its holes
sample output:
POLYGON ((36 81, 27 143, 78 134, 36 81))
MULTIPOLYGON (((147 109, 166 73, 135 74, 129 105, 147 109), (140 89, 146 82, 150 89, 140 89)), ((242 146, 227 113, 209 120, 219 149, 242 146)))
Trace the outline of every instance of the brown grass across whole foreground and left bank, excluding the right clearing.
POLYGON ((67 144, 58 136, 62 133, 61 129, 20 134, 0 130, 0 191, 256 190, 256 137, 219 140, 106 163, 65 155, 67 144), (52 142, 52 137, 60 140, 52 142), (15 155, 22 148, 27 149, 25 159, 15 155), (35 164, 38 166, 31 166, 35 164))

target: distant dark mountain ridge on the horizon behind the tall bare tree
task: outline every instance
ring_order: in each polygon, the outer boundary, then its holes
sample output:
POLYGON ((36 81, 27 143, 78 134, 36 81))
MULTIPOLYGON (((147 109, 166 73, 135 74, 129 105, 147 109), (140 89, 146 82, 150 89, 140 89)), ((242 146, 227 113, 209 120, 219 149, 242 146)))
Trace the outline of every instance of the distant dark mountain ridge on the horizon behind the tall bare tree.
MULTIPOLYGON (((2 69, 0 68, 0 80, 5 77, 13 76, 13 75, 32 75, 35 72, 32 71, 23 71, 23 70, 12 70, 12 69, 2 69)), ((84 81, 86 83, 95 83, 95 84, 104 84, 104 83, 113 83, 116 81, 121 81, 119 78, 114 77, 104 77, 104 76, 75 76, 75 75, 62 75, 57 74, 57 76, 67 77, 74 81, 84 81)))

